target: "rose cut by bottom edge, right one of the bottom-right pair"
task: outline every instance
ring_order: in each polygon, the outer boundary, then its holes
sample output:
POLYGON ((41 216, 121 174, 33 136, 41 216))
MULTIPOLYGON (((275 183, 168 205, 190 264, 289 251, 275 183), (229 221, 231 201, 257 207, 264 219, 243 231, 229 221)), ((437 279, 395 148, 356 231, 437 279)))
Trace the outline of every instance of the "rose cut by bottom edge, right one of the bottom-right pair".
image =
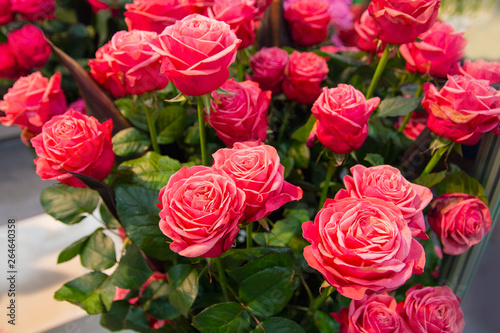
POLYGON ((399 306, 411 332, 461 333, 465 322, 460 302, 448 286, 417 285, 406 292, 406 300, 399 306))

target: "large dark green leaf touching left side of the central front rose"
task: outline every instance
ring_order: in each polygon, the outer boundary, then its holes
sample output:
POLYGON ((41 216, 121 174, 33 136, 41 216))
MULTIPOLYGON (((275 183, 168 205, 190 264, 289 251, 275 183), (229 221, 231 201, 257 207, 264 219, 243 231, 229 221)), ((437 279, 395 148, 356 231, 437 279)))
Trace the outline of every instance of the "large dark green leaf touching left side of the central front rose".
POLYGON ((146 254, 160 260, 172 255, 160 230, 158 191, 139 186, 119 186, 116 189, 118 216, 128 237, 146 254))

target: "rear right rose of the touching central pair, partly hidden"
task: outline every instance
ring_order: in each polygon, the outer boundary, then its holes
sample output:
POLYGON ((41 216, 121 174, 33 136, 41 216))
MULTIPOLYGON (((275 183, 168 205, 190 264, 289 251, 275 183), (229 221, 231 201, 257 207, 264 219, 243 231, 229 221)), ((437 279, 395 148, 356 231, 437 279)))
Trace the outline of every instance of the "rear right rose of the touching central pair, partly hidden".
POLYGON ((285 203, 302 198, 302 189, 285 181, 278 152, 259 141, 237 142, 213 154, 216 169, 224 170, 246 194, 244 221, 260 220, 285 203))

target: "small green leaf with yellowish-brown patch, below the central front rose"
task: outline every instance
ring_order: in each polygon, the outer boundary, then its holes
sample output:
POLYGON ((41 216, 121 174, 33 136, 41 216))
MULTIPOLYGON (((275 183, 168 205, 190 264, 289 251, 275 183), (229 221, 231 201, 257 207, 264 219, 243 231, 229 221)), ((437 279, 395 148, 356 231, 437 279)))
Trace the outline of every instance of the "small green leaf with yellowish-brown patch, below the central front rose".
POLYGON ((168 270, 170 304, 185 317, 198 295, 198 272, 191 265, 177 265, 168 270))

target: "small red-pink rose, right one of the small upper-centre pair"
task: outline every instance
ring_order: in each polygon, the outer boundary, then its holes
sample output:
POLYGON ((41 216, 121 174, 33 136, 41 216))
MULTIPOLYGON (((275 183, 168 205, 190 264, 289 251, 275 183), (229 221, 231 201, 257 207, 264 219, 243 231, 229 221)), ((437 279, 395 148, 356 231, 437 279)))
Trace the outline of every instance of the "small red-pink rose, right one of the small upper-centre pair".
POLYGON ((321 94, 321 83, 327 75, 328 65, 323 57, 293 51, 285 67, 283 92, 292 101, 312 104, 321 94))

